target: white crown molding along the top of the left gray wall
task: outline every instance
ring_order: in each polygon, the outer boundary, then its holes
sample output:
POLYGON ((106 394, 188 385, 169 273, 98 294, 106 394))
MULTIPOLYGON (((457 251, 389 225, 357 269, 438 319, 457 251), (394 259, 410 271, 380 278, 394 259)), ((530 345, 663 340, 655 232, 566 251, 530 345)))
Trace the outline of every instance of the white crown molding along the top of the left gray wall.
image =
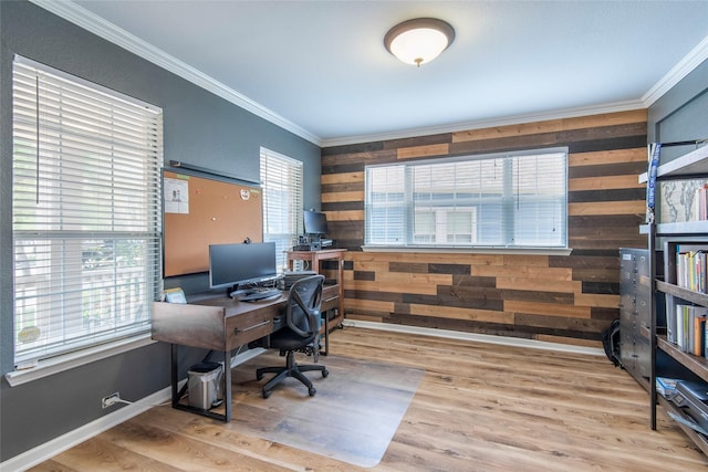
POLYGON ((104 20, 103 18, 90 12, 83 7, 72 1, 56 0, 30 0, 38 7, 70 21, 84 30, 87 30, 106 41, 110 41, 143 59, 149 61, 160 67, 205 88, 221 98, 231 102, 235 105, 257 115, 281 128, 300 136, 310 143, 321 146, 321 139, 308 132, 306 129, 285 119, 273 111, 253 102, 249 97, 236 92, 208 76, 207 74, 196 70, 195 67, 179 61, 178 59, 167 54, 158 48, 140 40, 139 38, 128 33, 115 24, 104 20))

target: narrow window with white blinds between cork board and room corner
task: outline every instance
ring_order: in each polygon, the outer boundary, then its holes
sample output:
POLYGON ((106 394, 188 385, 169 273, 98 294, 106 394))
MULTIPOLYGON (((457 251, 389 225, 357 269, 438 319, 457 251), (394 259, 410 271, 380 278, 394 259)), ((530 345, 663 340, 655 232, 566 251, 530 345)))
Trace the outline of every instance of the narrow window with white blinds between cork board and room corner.
POLYGON ((275 242, 277 264, 285 268, 285 251, 303 232, 302 162, 261 148, 263 241, 275 242))

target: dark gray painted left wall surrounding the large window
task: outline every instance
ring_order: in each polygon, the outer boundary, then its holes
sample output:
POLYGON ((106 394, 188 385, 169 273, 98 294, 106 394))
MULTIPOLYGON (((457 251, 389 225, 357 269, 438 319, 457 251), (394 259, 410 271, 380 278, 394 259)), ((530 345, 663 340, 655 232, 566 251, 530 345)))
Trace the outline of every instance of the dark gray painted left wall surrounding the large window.
MULTIPOLYGON (((320 148, 27 1, 0 1, 0 369, 13 369, 12 57, 21 54, 164 109, 165 160, 259 180, 264 146, 304 162, 305 208, 320 207, 320 148)), ((206 277, 206 275, 205 275, 206 277)), ((198 279, 198 277, 197 277, 198 279)), ((202 281, 194 281, 197 285, 202 281)), ((180 368, 204 353, 183 350, 180 368)), ((142 349, 9 387, 0 380, 0 461, 79 428, 119 390, 139 399, 169 385, 169 348, 142 349)))

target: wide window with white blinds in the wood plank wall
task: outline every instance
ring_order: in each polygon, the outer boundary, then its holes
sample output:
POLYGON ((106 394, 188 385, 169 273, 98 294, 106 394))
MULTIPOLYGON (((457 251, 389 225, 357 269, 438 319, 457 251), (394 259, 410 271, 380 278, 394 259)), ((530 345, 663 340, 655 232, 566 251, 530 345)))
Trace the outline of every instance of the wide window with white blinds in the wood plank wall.
POLYGON ((566 149, 366 167, 365 244, 566 248, 566 149))

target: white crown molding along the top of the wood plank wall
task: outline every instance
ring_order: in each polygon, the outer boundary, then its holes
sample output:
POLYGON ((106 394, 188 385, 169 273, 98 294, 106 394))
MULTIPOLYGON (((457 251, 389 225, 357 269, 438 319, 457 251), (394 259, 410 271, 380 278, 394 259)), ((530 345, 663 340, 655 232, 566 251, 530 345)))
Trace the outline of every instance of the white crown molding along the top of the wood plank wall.
POLYGON ((525 123, 546 122, 550 119, 577 118, 582 116, 600 115, 603 113, 629 112, 645 108, 641 99, 616 102, 603 105, 583 106, 576 108, 556 109, 551 112, 514 115, 504 118, 479 119, 473 122, 429 126, 423 128, 405 129, 393 133, 374 135, 361 135, 343 138, 322 139, 321 147, 346 146, 352 144, 375 143, 391 139, 404 139, 418 136, 439 135, 444 133, 467 132, 470 129, 493 128, 497 126, 521 125, 525 123))

